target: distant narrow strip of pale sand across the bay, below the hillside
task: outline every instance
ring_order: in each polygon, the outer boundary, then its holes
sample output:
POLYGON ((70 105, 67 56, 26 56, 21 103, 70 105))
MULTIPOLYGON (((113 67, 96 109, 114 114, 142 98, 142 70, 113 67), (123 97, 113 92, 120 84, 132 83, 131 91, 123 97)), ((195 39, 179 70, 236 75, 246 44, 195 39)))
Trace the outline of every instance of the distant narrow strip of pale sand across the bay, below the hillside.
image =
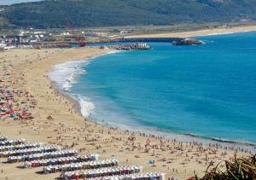
POLYGON ((140 34, 131 35, 127 38, 189 38, 196 36, 207 36, 207 35, 218 35, 218 34, 228 34, 236 32, 253 32, 256 31, 256 26, 233 26, 233 27, 218 27, 209 28, 198 31, 189 32, 168 32, 168 33, 154 33, 154 34, 140 34))

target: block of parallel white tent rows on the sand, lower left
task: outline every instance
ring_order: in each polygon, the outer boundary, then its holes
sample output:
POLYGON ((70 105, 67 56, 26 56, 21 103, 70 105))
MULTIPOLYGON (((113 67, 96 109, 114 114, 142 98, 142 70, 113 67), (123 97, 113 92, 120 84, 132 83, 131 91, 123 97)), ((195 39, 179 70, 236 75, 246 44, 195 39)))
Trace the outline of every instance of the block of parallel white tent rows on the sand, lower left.
POLYGON ((8 140, 0 136, 0 157, 8 163, 24 162, 25 168, 43 166, 42 172, 61 172, 65 180, 86 178, 90 180, 162 180, 160 172, 141 174, 142 166, 118 166, 119 160, 99 160, 98 154, 79 155, 76 150, 62 150, 42 143, 25 143, 24 139, 8 140))

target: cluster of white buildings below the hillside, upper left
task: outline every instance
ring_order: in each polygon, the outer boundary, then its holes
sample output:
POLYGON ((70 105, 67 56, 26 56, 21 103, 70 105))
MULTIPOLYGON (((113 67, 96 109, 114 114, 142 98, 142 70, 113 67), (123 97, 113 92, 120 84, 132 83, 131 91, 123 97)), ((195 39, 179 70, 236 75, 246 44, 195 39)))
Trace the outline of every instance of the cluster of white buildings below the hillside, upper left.
POLYGON ((82 41, 90 42, 108 42, 119 38, 124 34, 131 33, 130 30, 114 30, 114 31, 95 31, 88 30, 75 31, 71 30, 14 30, 14 32, 6 32, 0 34, 0 50, 4 49, 30 49, 30 48, 69 48, 74 44, 82 41))

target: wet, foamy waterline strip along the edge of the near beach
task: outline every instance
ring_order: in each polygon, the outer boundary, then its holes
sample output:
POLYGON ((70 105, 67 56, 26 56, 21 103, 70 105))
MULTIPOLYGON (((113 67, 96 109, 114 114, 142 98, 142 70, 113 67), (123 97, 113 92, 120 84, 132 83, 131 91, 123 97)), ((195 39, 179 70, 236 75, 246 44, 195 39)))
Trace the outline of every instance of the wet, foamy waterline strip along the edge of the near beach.
MULTIPOLYGON (((112 52, 112 53, 116 53, 116 52, 112 52)), ((81 60, 76 60, 76 61, 72 61, 72 62, 78 62, 79 65, 82 67, 82 66, 84 66, 84 63, 88 63, 88 61, 89 62, 90 61, 95 61, 94 59, 98 56, 108 55, 108 54, 112 54, 112 53, 106 53, 106 54, 102 54, 102 55, 95 55, 95 56, 89 57, 87 59, 87 61, 84 61, 84 59, 81 59, 81 60), (80 62, 82 62, 82 63, 80 63, 80 62)), ((59 65, 68 65, 70 62, 71 61, 66 61, 66 62, 61 63, 59 65)), ((58 64, 56 64, 55 66, 58 66, 58 64)), ((81 75, 81 73, 78 73, 75 76, 77 77, 79 75, 81 75)), ((49 78, 49 81, 53 82, 53 84, 54 84, 53 79, 49 78)), ((73 82, 70 82, 70 84, 73 84, 73 82)), ((79 99, 74 97, 69 92, 69 90, 66 92, 65 90, 61 89, 60 87, 58 88, 56 86, 55 86, 55 90, 58 90, 62 94, 62 96, 67 97, 70 101, 72 101, 76 105, 75 107, 76 107, 77 112, 79 112, 80 115, 84 119, 90 119, 89 117, 83 116, 82 107, 81 107, 81 104, 79 102, 79 99)), ((224 138, 221 138, 221 137, 214 137, 214 136, 209 136, 209 137, 208 136, 200 136, 200 135, 191 134, 191 133, 182 133, 182 132, 179 133, 179 132, 173 132, 173 131, 170 131, 170 132, 160 131, 160 130, 157 130, 156 128, 154 128, 154 127, 146 127, 146 126, 143 126, 143 125, 139 125, 138 128, 135 128, 135 127, 130 126, 130 125, 115 124, 115 123, 108 122, 108 121, 104 121, 104 123, 102 123, 102 121, 99 120, 99 119, 93 119, 92 122, 96 122, 99 125, 105 125, 107 127, 113 127, 113 128, 118 129, 119 131, 123 131, 123 132, 130 131, 132 133, 137 134, 137 136, 140 136, 140 134, 145 134, 147 136, 150 136, 150 135, 162 136, 162 137, 165 137, 166 139, 170 139, 170 140, 176 139, 178 142, 186 142, 186 143, 188 143, 188 142, 198 142, 198 143, 202 143, 203 145, 205 145, 207 147, 209 147, 209 144, 218 144, 222 148, 224 148, 224 147, 228 147, 228 148, 231 148, 231 149, 244 148, 247 151, 251 151, 252 153, 256 153, 256 143, 253 143, 253 142, 233 140, 233 139, 224 139, 224 138)))

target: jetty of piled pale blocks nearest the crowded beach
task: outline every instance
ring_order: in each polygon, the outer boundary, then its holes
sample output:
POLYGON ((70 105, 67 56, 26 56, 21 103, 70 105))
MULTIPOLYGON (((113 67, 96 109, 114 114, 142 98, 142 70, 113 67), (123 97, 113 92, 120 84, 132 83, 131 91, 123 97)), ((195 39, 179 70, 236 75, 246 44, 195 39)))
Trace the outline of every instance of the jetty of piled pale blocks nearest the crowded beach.
POLYGON ((148 44, 137 43, 137 44, 118 44, 118 45, 110 45, 109 49, 115 50, 137 50, 137 49, 150 49, 148 44))

